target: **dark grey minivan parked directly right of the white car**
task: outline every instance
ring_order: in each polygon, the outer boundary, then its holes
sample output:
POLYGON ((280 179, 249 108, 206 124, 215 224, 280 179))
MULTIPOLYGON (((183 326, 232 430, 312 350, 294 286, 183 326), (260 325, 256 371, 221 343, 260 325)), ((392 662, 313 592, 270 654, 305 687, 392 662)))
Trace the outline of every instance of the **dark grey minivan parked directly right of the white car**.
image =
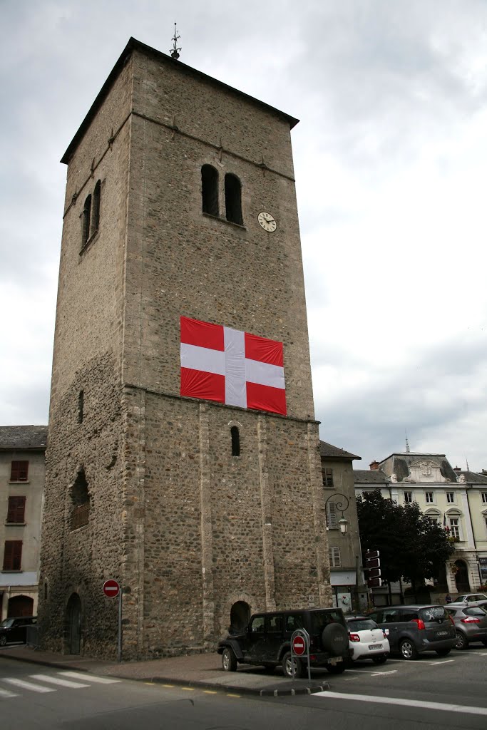
POLYGON ((424 651, 447 656, 456 645, 455 626, 442 606, 386 606, 369 614, 389 639, 391 653, 417 659, 424 651))

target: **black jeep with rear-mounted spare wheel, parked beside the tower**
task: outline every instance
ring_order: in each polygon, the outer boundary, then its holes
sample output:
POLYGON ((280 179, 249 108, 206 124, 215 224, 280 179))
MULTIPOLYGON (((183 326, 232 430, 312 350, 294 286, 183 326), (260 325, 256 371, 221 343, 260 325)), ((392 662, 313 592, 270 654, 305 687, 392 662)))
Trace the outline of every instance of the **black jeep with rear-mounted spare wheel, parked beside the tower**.
MULTIPOLYGON (((332 674, 340 674, 350 658, 348 628, 342 610, 313 608, 296 611, 272 611, 250 617, 248 626, 239 634, 229 634, 218 644, 222 666, 234 672, 237 664, 261 664, 273 670, 282 666, 286 677, 293 676, 291 636, 296 629, 310 634, 310 665, 326 666, 332 674)), ((294 676, 302 677, 306 662, 294 659, 294 676)))

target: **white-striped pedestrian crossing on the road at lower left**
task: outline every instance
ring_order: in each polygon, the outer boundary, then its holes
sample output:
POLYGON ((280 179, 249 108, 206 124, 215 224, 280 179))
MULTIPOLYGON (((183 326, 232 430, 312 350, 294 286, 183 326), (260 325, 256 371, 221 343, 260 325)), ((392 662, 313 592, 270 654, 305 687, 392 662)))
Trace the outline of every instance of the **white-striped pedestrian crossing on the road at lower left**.
POLYGON ((60 689, 83 689, 91 685, 116 684, 112 677, 97 677, 83 672, 55 672, 53 674, 0 677, 0 700, 18 697, 25 692, 46 694, 60 689), (7 689, 8 688, 8 689, 7 689))

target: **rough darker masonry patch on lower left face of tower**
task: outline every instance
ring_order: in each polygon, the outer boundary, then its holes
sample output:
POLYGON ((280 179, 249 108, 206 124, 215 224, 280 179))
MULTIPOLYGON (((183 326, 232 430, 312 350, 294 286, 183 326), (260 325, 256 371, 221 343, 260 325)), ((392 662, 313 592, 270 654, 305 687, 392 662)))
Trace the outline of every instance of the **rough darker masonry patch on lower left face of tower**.
POLYGON ((116 656, 117 606, 102 593, 120 580, 123 542, 120 385, 111 356, 93 358, 76 374, 50 423, 42 523, 39 623, 47 648, 66 648, 66 604, 77 592, 84 610, 82 651, 116 656), (83 423, 78 394, 84 388, 83 423), (71 488, 83 469, 90 496, 89 523, 71 529, 71 488), (45 599, 47 585, 47 599, 45 599))

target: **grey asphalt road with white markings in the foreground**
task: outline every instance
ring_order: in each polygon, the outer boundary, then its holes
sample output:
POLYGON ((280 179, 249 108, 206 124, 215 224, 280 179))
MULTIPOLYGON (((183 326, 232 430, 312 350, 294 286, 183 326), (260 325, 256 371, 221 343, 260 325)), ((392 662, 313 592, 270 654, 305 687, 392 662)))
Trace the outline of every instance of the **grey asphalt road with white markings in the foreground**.
POLYGON ((487 650, 363 662, 330 691, 256 698, 150 685, 0 658, 5 730, 485 730, 487 650))

